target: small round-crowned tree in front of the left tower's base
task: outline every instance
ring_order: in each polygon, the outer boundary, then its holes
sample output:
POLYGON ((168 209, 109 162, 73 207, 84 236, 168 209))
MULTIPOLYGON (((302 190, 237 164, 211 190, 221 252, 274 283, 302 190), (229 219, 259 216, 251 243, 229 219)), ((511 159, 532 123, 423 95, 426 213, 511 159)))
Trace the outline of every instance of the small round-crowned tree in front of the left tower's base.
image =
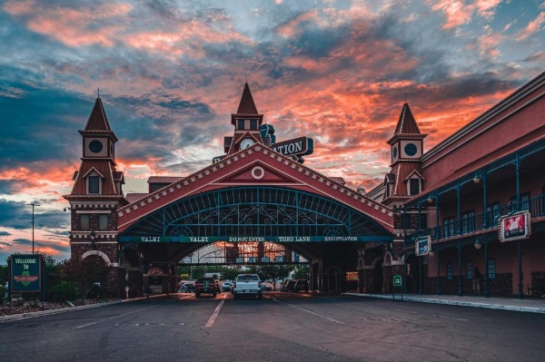
POLYGON ((87 298, 97 283, 102 284, 109 279, 109 268, 98 256, 64 260, 62 270, 64 279, 74 283, 82 299, 87 298))

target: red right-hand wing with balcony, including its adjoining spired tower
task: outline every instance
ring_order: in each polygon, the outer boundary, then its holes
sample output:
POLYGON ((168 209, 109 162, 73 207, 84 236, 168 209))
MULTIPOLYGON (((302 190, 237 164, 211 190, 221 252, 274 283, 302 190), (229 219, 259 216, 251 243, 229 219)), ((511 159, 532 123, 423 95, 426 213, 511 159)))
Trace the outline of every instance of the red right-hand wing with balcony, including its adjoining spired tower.
POLYGON ((425 137, 405 103, 391 171, 367 194, 401 215, 404 288, 545 295, 545 73, 428 152, 425 137))

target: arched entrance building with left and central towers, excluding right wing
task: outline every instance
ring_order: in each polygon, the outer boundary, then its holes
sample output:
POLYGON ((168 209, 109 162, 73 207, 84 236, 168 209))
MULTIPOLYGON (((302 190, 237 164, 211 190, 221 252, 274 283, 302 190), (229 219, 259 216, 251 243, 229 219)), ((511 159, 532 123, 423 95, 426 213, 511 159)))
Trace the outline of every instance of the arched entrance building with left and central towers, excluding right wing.
POLYGON ((103 251, 118 268, 118 280, 125 280, 118 285, 138 295, 144 289, 139 279, 158 267, 163 278, 170 279, 163 291, 172 291, 178 260, 204 245, 272 242, 309 260, 312 289, 342 290, 346 273, 358 269, 359 250, 393 240, 394 212, 345 186, 342 179, 302 165, 301 155, 310 152, 312 140, 303 137, 272 144, 272 127, 262 122, 263 114, 257 113, 245 84, 239 110, 232 115, 234 135, 225 138, 223 156, 189 176, 150 182, 149 193, 123 197, 123 174, 114 171, 117 139, 98 99, 81 132, 88 156, 82 158, 73 194, 64 196, 72 207, 73 254, 90 247, 103 251), (263 137, 260 128, 266 131, 263 137), (105 147, 106 151, 99 151, 96 142, 101 133, 104 146, 111 143, 111 151, 105 147), (94 182, 99 187, 92 190, 94 182), (106 184, 114 188, 106 189, 106 184), (95 194, 106 190, 111 194, 95 194), (90 206, 93 200, 96 205, 90 206), (95 232, 106 219, 107 230, 95 232), (81 228, 84 222, 89 222, 87 230, 81 228), (91 239, 94 234, 96 240, 91 239), (123 269, 120 260, 134 267, 123 269))

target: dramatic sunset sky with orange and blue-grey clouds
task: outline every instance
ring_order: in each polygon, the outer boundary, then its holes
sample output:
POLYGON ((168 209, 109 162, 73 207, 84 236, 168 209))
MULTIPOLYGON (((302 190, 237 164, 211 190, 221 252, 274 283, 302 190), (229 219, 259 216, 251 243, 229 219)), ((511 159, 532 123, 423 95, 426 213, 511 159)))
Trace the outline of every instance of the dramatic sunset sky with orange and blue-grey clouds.
POLYGON ((543 0, 0 0, 0 264, 70 256, 68 206, 97 90, 124 192, 223 154, 247 82, 277 141, 367 191, 407 100, 425 150, 545 71, 543 0))

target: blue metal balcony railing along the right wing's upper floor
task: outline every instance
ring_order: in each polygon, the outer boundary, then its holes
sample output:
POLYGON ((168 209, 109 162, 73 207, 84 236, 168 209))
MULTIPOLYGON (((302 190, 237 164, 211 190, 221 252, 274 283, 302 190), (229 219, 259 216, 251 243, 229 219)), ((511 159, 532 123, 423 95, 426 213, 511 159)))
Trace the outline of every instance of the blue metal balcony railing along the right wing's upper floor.
POLYGON ((407 235, 404 245, 405 248, 413 247, 416 238, 420 236, 431 236, 431 240, 444 240, 476 231, 498 228, 501 216, 522 210, 529 210, 532 219, 545 216, 545 195, 523 200, 518 204, 516 202, 510 202, 509 205, 500 204, 497 208, 481 214, 444 223, 435 228, 418 230, 407 235))

